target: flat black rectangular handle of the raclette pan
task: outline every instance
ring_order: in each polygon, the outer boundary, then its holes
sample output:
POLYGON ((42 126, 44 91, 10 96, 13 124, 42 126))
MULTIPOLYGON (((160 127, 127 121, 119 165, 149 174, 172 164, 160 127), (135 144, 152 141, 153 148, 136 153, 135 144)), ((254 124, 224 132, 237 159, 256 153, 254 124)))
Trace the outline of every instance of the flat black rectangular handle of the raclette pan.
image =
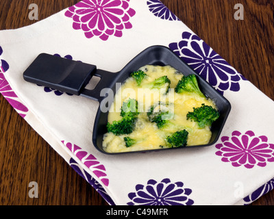
POLYGON ((97 67, 92 64, 47 53, 38 55, 23 73, 25 81, 77 96, 86 96, 95 101, 101 101, 101 90, 108 88, 114 81, 114 77, 114 73, 97 70, 97 67), (86 86, 93 76, 101 77, 101 80, 94 90, 87 90, 86 86))

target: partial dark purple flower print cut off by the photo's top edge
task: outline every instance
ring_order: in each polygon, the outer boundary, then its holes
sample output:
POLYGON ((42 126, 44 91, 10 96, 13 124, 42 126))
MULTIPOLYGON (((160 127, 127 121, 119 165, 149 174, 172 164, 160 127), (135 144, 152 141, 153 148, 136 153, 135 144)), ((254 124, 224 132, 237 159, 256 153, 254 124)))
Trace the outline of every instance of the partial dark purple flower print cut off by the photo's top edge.
POLYGON ((177 16, 175 16, 175 14, 173 14, 161 1, 149 0, 147 1, 147 5, 149 5, 149 11, 151 11, 155 16, 158 16, 163 20, 179 21, 179 18, 177 18, 177 16))

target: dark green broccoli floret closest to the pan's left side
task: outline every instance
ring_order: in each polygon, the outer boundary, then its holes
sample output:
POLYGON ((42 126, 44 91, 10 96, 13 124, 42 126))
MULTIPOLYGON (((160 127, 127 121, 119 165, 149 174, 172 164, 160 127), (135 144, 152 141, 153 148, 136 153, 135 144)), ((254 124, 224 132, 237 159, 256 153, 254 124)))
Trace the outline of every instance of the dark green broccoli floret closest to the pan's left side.
POLYGON ((114 133, 116 136, 130 134, 134 131, 137 117, 125 116, 119 121, 114 121, 112 124, 108 123, 108 132, 114 133))

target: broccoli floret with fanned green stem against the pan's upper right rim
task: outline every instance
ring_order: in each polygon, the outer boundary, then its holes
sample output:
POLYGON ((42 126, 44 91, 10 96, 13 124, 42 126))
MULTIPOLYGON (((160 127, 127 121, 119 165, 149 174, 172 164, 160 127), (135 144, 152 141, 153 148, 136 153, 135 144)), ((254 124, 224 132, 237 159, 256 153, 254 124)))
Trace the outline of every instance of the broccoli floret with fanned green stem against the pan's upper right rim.
POLYGON ((181 94, 183 92, 195 92, 199 96, 205 97, 199 88, 197 77, 195 75, 188 75, 182 77, 182 79, 177 83, 175 92, 181 94))

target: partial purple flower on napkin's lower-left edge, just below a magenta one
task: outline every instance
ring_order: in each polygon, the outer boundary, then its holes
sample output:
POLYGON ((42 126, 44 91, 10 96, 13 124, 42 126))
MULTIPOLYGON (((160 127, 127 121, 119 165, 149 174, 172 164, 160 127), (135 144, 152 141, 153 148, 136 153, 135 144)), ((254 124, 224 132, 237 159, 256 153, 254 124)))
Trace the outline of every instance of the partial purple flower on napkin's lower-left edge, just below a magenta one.
POLYGON ((107 201, 110 205, 115 205, 112 198, 110 198, 108 193, 105 192, 103 186, 91 175, 89 175, 88 172, 86 172, 86 170, 84 170, 82 166, 80 166, 73 158, 70 159, 69 164, 81 177, 86 179, 86 181, 92 185, 92 187, 105 199, 105 201, 107 201))

